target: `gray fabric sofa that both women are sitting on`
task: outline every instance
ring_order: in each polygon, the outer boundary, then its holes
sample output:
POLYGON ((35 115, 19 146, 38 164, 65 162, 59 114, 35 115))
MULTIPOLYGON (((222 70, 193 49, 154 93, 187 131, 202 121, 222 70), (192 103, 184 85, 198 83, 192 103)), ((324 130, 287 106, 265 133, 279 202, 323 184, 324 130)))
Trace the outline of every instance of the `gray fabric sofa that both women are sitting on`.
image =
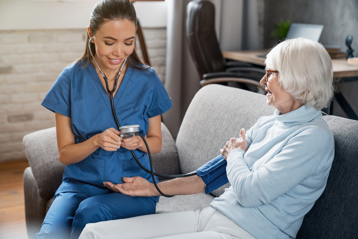
MULTIPOLYGON (((263 115, 271 115, 265 96, 212 84, 193 98, 174 142, 162 124, 163 148, 153 155, 157 172, 176 174, 195 170, 219 154, 239 129, 250 128, 263 115)), ((322 196, 305 216, 297 238, 357 238, 358 236, 358 121, 324 116, 334 133, 335 157, 322 196)), ((55 128, 24 137, 30 167, 24 172, 28 236, 41 222, 60 185, 64 166, 58 160, 55 128)), ((309 152, 307 152, 309 154, 309 152)), ((203 208, 229 184, 210 194, 161 197, 156 213, 203 208)))

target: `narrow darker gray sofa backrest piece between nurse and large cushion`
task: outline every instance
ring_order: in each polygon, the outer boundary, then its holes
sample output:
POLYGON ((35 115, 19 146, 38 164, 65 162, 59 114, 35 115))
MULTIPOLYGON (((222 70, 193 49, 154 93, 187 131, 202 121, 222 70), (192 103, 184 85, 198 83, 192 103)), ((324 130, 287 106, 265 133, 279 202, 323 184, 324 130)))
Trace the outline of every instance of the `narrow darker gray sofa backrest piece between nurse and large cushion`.
POLYGON ((174 139, 164 123, 162 123, 162 150, 158 154, 152 154, 152 160, 155 172, 167 175, 181 173, 174 139))

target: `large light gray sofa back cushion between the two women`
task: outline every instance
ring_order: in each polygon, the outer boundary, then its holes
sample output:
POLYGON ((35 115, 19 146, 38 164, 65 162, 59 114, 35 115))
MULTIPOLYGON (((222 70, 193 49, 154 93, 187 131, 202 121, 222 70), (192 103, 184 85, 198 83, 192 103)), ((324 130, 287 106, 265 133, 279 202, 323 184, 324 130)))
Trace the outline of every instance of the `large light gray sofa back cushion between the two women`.
MULTIPOLYGON (((274 110, 264 95, 218 84, 204 86, 191 101, 176 138, 181 171, 191 172, 215 158, 241 128, 249 129, 274 110)), ((218 197, 228 186, 212 194, 218 197)))

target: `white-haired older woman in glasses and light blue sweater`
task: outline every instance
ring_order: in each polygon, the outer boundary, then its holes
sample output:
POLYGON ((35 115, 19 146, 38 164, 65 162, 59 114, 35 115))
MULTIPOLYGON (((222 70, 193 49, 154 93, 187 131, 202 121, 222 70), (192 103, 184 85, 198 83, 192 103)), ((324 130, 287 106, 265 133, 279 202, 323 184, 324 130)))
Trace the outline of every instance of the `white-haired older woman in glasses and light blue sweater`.
MULTIPOLYGON (((210 206, 87 224, 81 238, 294 238, 322 194, 334 156, 333 134, 321 109, 332 97, 332 64, 318 42, 288 39, 265 60, 266 103, 258 119, 220 150, 231 186, 210 206)), ((146 180, 105 185, 131 196, 160 195, 146 180)), ((205 191, 198 176, 161 182, 169 195, 205 191)))

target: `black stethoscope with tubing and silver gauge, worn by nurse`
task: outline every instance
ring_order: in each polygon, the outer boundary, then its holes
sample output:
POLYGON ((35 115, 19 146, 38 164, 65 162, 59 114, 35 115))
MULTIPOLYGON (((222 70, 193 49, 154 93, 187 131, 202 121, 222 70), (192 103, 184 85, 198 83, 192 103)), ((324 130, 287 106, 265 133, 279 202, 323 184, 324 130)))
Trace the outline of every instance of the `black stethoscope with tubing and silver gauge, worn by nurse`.
POLYGON ((145 140, 145 137, 143 135, 141 135, 139 132, 139 125, 138 124, 135 124, 135 125, 126 125, 126 126, 120 126, 119 122, 118 122, 118 119, 117 119, 117 115, 116 115, 116 111, 115 111, 115 103, 113 101, 113 93, 116 91, 116 88, 117 88, 117 83, 118 83, 118 78, 119 76, 121 75, 121 72, 122 72, 122 69, 124 67, 124 64, 125 62, 127 61, 128 57, 125 58, 123 64, 122 64, 122 67, 118 73, 118 76, 116 78, 116 81, 115 81, 115 85, 113 87, 112 90, 109 90, 109 86, 108 86, 108 78, 106 77, 106 75, 102 72, 102 70, 99 68, 98 64, 97 64, 97 61, 94 57, 94 55, 92 54, 92 50, 91 50, 91 40, 93 38, 89 39, 88 40, 88 49, 89 49, 89 53, 91 54, 93 60, 95 61, 96 63, 96 66, 98 67, 98 70, 100 71, 100 73, 102 74, 103 76, 103 79, 104 79, 104 82, 106 84, 106 90, 108 92, 108 94, 110 95, 110 106, 111 106, 111 110, 112 110, 112 114, 113 114, 113 118, 116 122, 116 125, 118 127, 118 129, 121 131, 121 137, 122 138, 130 138, 130 137, 133 137, 135 135, 138 135, 140 136, 142 139, 143 139, 143 142, 147 148, 147 151, 148 151, 148 158, 149 158, 149 164, 150 164, 150 170, 148 170, 147 168, 145 168, 138 160, 137 156, 135 155, 134 151, 133 150, 129 150, 130 153, 132 154, 133 158, 136 160, 137 164, 146 172, 150 173, 151 176, 152 176, 152 180, 153 180, 153 184, 156 188, 156 190, 158 190, 164 197, 167 197, 167 198, 171 198, 173 197, 173 195, 166 195, 164 194, 158 187, 158 185, 156 185, 156 182, 155 182, 155 177, 154 176, 158 176, 158 177, 163 177, 163 178, 184 178, 184 177, 190 177, 190 176, 194 176, 194 175, 197 175, 196 171, 195 172, 192 172, 192 173, 187 173, 185 175, 162 175, 160 173, 156 173, 154 172, 153 170, 153 163, 152 163, 152 157, 151 157, 151 154, 150 154, 150 150, 149 150, 149 146, 147 144, 147 141, 145 140))

